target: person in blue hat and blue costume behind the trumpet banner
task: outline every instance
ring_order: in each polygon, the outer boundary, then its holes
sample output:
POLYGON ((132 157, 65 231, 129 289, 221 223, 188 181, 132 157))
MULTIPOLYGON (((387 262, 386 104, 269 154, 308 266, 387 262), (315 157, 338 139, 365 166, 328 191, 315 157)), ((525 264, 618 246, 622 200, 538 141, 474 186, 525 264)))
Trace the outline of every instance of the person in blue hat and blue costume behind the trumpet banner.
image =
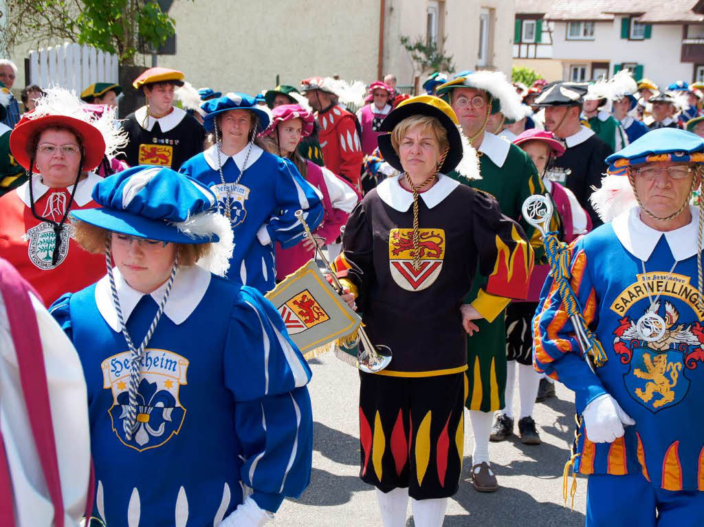
POLYGON ((298 209, 314 231, 322 222, 322 196, 291 161, 255 144, 270 121, 255 99, 229 93, 201 109, 215 144, 187 160, 180 172, 210 186, 230 218, 235 243, 227 278, 266 293, 276 284, 273 242, 289 248, 303 241, 298 209))

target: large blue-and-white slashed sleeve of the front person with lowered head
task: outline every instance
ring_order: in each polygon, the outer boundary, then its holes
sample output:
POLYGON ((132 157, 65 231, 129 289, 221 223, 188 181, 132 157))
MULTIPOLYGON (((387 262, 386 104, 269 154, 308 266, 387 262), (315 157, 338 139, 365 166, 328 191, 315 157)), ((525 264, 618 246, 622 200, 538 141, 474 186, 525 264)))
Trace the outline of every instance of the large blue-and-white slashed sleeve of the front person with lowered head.
POLYGON ((241 481, 259 507, 276 512, 284 497, 300 496, 310 481, 310 368, 279 312, 250 287, 239 292, 226 346, 225 384, 234 394, 245 459, 241 481))

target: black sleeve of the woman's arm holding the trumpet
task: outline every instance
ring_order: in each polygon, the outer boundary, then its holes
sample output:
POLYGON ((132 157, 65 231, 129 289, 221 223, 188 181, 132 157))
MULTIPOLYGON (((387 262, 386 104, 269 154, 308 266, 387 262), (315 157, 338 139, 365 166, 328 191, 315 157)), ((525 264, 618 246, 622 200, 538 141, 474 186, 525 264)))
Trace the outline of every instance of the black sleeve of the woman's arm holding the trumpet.
MULTIPOLYGON (((372 191, 367 196, 375 196, 372 191)), ((365 298, 365 291, 374 276, 372 227, 367 219, 364 198, 352 210, 342 237, 342 250, 332 262, 332 270, 350 288, 356 298, 365 298)))

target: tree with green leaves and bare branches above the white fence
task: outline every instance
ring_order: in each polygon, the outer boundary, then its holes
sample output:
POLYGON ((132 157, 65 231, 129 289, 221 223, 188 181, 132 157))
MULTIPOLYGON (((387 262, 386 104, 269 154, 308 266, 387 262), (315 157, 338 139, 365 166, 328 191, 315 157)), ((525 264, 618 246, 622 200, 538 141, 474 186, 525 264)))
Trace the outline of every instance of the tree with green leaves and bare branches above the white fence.
POLYGON ((174 20, 156 0, 6 0, 4 44, 36 46, 70 41, 117 53, 134 64, 137 53, 161 46, 175 34, 174 20))

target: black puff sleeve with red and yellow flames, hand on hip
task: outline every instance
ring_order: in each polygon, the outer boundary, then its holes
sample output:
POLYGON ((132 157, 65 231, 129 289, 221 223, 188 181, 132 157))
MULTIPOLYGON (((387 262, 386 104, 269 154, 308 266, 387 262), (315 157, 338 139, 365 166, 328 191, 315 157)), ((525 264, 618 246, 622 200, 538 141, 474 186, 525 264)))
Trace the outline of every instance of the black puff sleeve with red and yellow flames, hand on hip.
POLYGON ((533 249, 520 225, 501 214, 496 200, 481 191, 474 199, 472 226, 479 274, 486 277, 472 306, 493 322, 511 298, 526 298, 533 249))

